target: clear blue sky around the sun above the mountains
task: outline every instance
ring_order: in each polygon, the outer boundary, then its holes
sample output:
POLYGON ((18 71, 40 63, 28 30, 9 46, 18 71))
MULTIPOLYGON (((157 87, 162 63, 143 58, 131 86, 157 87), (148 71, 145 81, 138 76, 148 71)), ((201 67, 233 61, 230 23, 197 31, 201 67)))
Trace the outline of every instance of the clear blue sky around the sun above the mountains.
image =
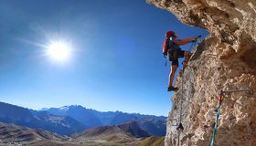
POLYGON ((145 0, 2 0, 0 20, 0 100, 35 110, 78 104, 167 116, 165 32, 208 35, 145 0), (73 50, 65 64, 45 55, 59 39, 73 50))

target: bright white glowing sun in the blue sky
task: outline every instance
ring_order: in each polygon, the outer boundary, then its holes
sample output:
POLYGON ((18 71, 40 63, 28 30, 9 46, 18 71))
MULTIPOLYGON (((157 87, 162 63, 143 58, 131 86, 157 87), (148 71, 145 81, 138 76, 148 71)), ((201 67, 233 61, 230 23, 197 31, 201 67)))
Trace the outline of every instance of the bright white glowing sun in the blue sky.
POLYGON ((71 48, 64 42, 53 42, 47 47, 48 57, 59 62, 66 62, 71 55, 71 48))

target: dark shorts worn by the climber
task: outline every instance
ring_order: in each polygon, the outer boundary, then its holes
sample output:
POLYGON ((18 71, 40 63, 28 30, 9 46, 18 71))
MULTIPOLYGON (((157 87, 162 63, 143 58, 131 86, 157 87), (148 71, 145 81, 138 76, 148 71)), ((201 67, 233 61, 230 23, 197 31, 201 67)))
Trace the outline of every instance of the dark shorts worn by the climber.
POLYGON ((181 48, 178 48, 176 50, 168 50, 167 57, 170 61, 172 61, 172 66, 176 65, 178 67, 178 58, 184 57, 184 50, 181 50, 181 48))

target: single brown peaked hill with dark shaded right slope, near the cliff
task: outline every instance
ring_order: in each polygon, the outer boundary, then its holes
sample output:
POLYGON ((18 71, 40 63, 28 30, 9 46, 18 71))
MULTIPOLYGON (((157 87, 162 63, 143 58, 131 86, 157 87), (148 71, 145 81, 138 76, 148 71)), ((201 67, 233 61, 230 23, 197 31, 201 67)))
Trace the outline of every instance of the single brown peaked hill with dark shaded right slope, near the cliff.
POLYGON ((129 121, 120 125, 96 127, 71 135, 73 141, 80 141, 81 144, 95 146, 138 145, 138 141, 149 136, 150 134, 142 130, 135 121, 129 121))

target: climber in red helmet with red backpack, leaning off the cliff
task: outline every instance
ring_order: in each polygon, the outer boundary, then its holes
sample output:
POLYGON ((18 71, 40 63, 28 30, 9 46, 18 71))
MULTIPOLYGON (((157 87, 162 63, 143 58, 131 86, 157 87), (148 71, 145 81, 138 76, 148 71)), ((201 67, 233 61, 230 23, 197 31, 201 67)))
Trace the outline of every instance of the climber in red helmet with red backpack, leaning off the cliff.
POLYGON ((167 91, 176 91, 178 88, 173 87, 173 80, 175 78, 176 68, 178 67, 178 58, 185 57, 185 63, 183 64, 183 69, 185 69, 187 67, 187 62, 191 56, 191 53, 189 51, 181 50, 180 46, 186 45, 190 42, 196 42, 200 36, 196 36, 193 38, 176 39, 177 36, 174 31, 166 32, 165 36, 165 43, 167 42, 167 51, 164 52, 163 48, 163 53, 164 55, 166 53, 167 58, 169 59, 169 61, 172 62, 172 68, 169 74, 169 85, 167 91))

